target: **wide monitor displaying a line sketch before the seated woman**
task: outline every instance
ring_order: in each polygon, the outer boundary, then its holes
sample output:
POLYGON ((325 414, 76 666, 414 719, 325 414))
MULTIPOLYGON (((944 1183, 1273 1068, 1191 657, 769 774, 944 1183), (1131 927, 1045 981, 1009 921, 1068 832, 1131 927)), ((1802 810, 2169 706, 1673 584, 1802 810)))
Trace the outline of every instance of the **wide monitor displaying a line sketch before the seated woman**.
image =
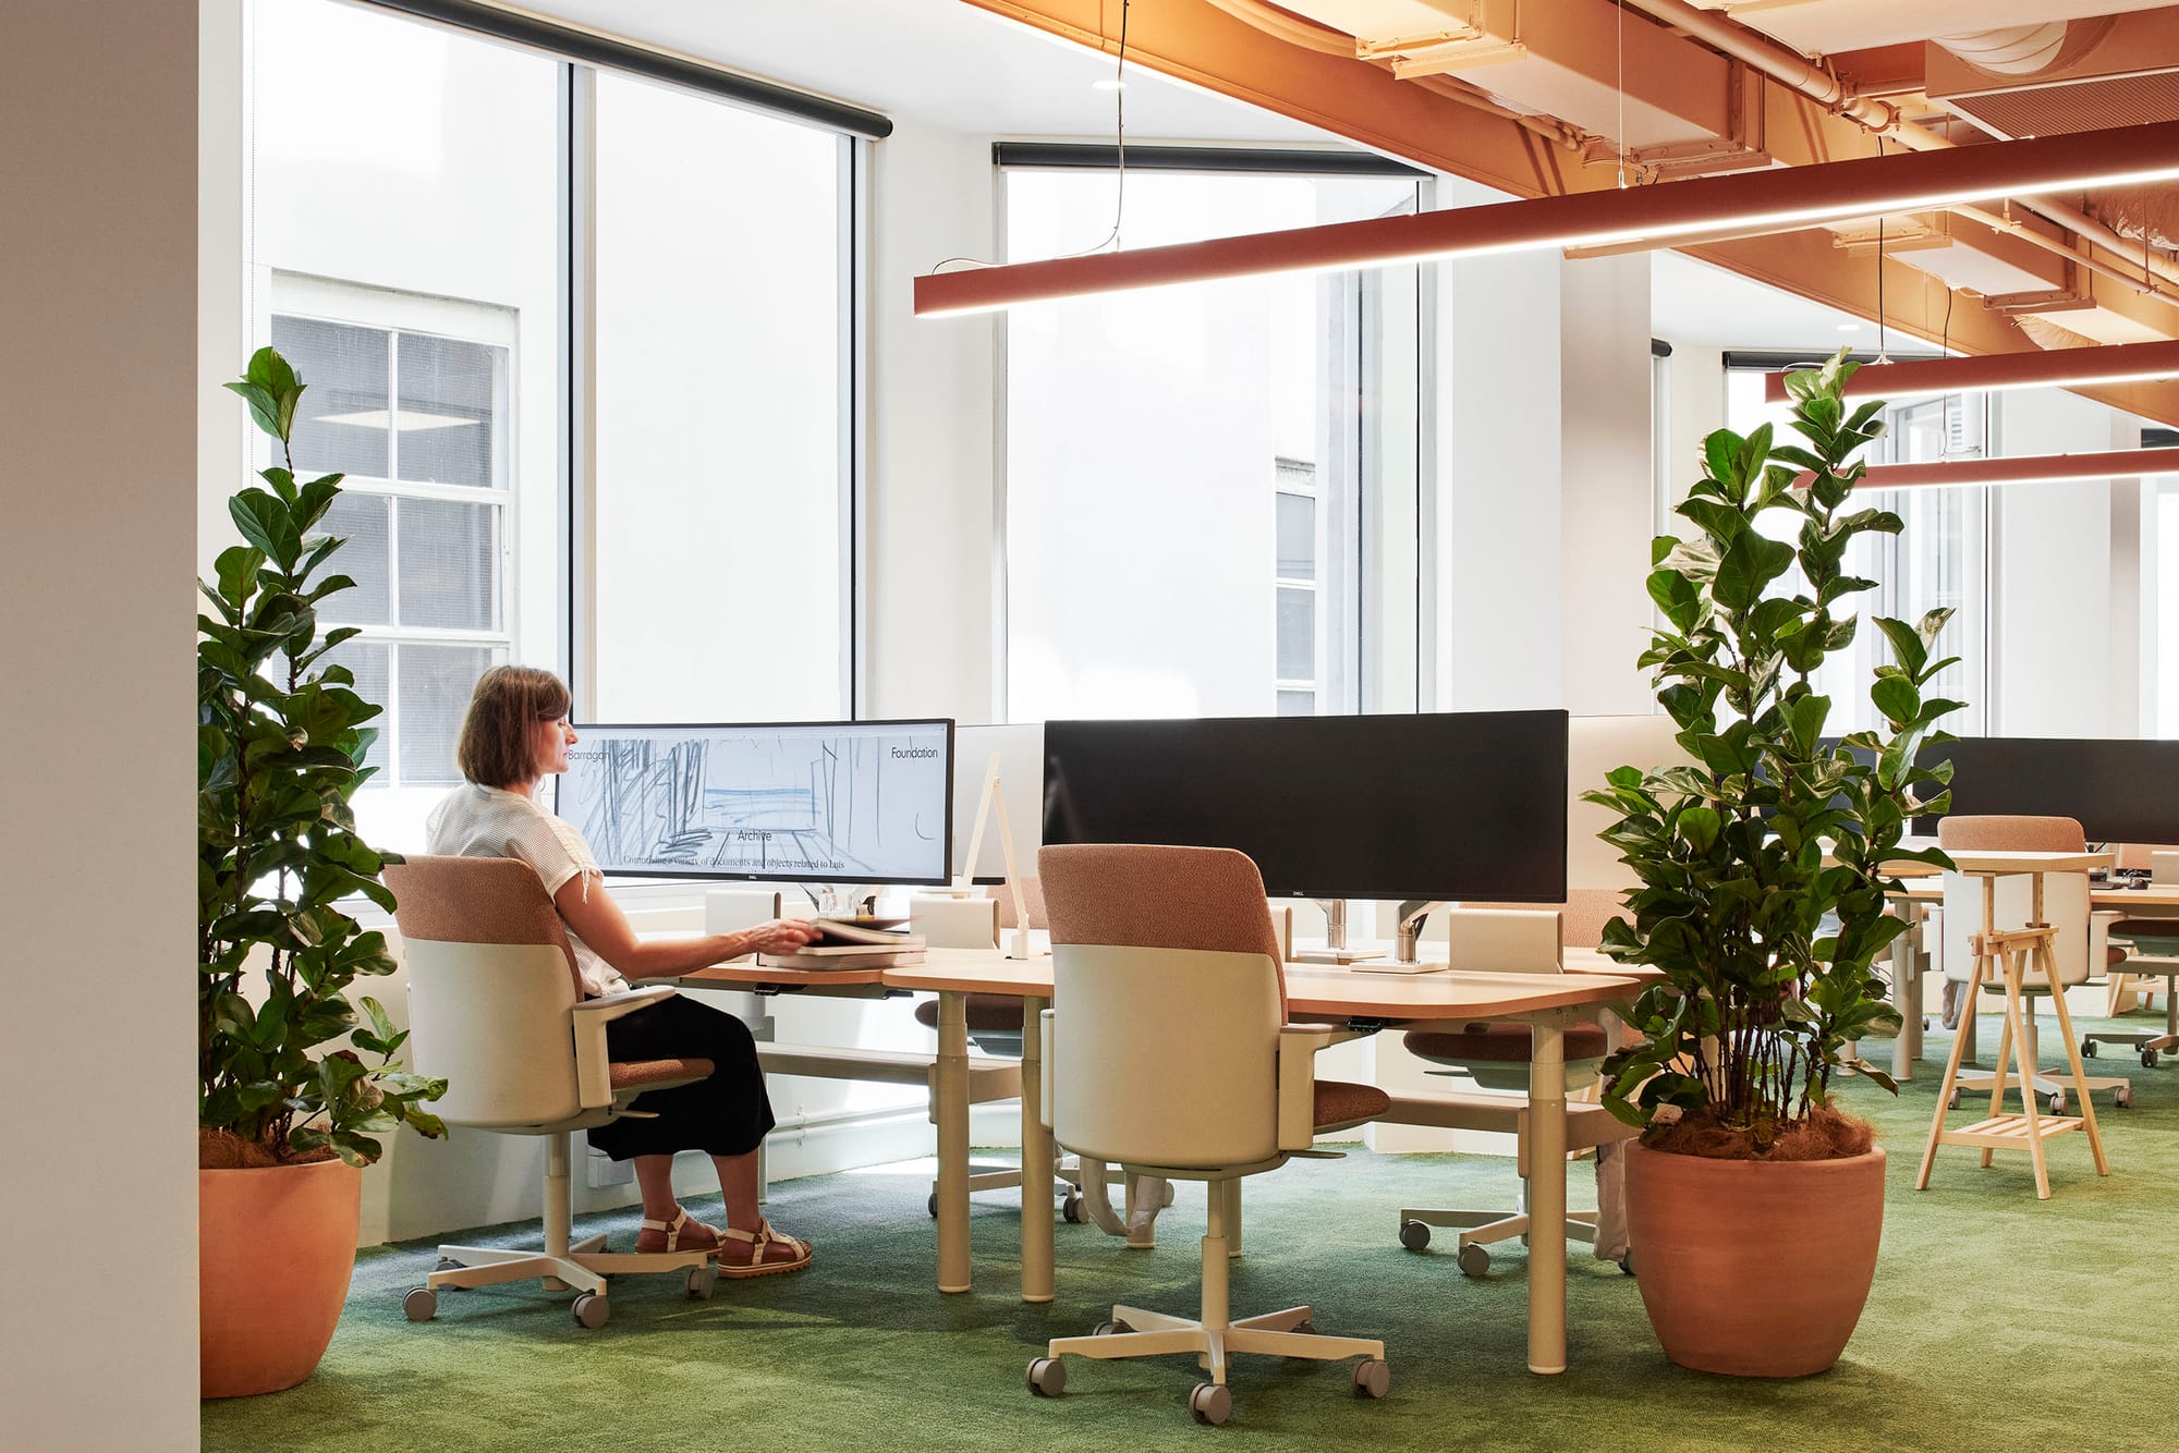
POLYGON ((946 882, 952 721, 577 725, 558 813, 608 874, 946 882))

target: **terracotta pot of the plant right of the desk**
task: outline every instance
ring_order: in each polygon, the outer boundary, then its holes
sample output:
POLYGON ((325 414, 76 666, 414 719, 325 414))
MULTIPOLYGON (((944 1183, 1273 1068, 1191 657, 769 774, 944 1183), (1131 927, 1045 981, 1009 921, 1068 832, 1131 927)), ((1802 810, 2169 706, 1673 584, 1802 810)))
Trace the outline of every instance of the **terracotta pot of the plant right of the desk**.
POLYGON ((1885 1152, 1711 1161, 1628 1146, 1628 1244, 1665 1355, 1809 1377, 1839 1362, 1876 1279, 1885 1152))

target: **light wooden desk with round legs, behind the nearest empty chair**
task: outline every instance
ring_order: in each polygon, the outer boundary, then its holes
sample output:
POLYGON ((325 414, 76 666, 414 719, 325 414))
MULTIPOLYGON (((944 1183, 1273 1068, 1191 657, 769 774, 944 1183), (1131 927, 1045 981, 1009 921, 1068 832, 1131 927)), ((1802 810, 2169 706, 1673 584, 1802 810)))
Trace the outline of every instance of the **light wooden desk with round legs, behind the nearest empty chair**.
MULTIPOLYGON (((1052 961, 1007 961, 978 950, 930 950, 922 965, 885 969, 891 989, 939 996, 939 1290, 970 1285, 967 1237, 967 996, 1022 1000, 1024 1028, 1052 1000, 1052 961)), ((1567 1059, 1565 1030, 1582 1011, 1628 998, 1632 974, 1358 974, 1286 965, 1294 1017, 1371 1026, 1521 1019, 1534 1026, 1530 1061, 1527 1366, 1567 1368, 1567 1059)), ((1042 1124, 1042 1043, 1022 1035, 1022 1301, 1052 1296, 1052 1139, 1042 1124)))

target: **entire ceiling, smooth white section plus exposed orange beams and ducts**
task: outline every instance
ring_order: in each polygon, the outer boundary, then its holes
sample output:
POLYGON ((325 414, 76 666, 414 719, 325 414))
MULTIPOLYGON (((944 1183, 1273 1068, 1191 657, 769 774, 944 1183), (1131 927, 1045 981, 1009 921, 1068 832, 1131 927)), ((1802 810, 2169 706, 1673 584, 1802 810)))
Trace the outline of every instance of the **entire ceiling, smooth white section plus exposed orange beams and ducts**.
MULTIPOLYGON (((1092 83, 1122 0, 529 9, 970 135, 1111 133, 1092 83)), ((2140 0, 1135 0, 1129 24, 1131 137, 1347 137, 1506 196, 2179 115, 2179 4, 2140 0)), ((1678 264, 1658 266, 1658 307, 1767 320, 1743 346, 1813 344, 1804 325, 1874 320, 1878 298, 1894 331, 1968 353, 2179 338, 2175 237, 2170 187, 1885 218, 1880 244, 1870 218, 1682 248, 1806 318, 1758 292, 1724 307, 1741 290, 1678 264), (1682 305, 1678 285, 1715 296, 1682 305)), ((2092 392, 2179 423, 2179 381, 2092 392)))

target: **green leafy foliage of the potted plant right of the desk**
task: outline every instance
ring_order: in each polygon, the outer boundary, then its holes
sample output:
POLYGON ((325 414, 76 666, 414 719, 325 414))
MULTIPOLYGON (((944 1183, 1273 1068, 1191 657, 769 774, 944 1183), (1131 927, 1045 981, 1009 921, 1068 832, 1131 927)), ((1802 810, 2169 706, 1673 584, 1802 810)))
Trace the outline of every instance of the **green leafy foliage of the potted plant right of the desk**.
POLYGON ((1957 660, 1935 651, 1950 612, 1876 621, 1891 656, 1870 686, 1880 730, 1826 738, 1833 704, 1815 686, 1854 640, 1850 599, 1876 584, 1846 571, 1852 542, 1902 529, 1852 508, 1854 455, 1885 427, 1880 401, 1848 412, 1854 368, 1841 351, 1789 375, 1802 442, 1774 442, 1769 425, 1704 440, 1706 475, 1678 508, 1693 532, 1652 542, 1665 625, 1641 656, 1693 765, 1619 767, 1584 793, 1619 813, 1602 837, 1641 882, 1602 948, 1663 974, 1632 1004, 1639 1041, 1604 1063, 1604 1100, 1643 1128, 1673 1107, 1663 1120, 1754 1157, 1828 1107, 1839 1070, 1898 1091, 1848 1057, 1898 1030, 1872 967, 1904 930, 1885 913, 1885 865, 1950 867, 1902 847, 1909 819, 1950 799, 1950 762, 1915 760, 1950 741, 1939 721, 1961 706, 1931 691, 1957 660))

